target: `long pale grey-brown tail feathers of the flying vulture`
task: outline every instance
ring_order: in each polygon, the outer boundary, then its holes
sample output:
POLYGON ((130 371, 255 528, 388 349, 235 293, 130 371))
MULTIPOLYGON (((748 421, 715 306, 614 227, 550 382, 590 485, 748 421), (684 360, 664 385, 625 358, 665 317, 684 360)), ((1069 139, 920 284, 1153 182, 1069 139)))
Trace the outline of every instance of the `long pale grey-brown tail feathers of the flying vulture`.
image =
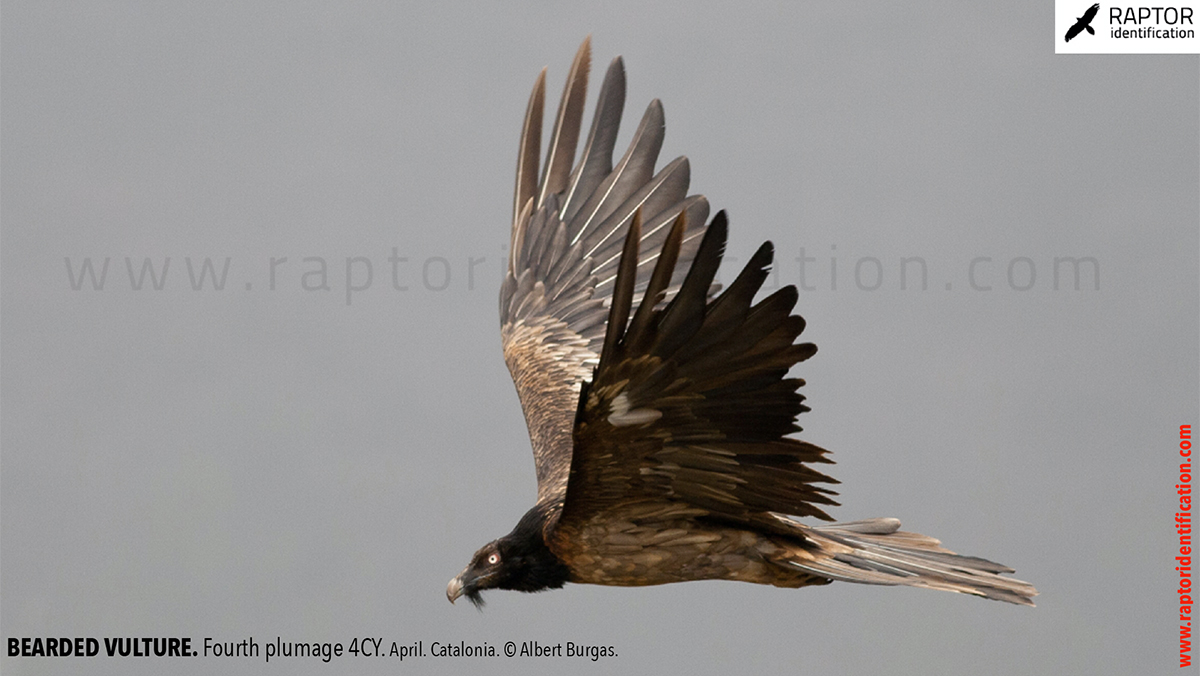
POLYGON ((908 585, 1033 605, 1038 591, 1028 582, 1004 578, 1013 569, 960 556, 934 538, 900 531, 896 519, 869 519, 828 526, 798 527, 817 546, 786 561, 787 566, 845 582, 908 585))

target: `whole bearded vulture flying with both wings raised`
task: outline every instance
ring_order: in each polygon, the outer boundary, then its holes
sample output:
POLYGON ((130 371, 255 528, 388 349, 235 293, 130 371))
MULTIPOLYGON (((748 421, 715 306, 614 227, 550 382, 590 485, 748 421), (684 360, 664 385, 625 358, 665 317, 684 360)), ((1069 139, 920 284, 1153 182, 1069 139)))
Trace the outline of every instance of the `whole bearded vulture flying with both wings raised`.
POLYGON ((662 585, 742 580, 776 587, 908 585, 1033 605, 1037 591, 984 558, 900 531, 895 519, 832 519, 827 451, 793 438, 808 411, 788 371, 796 287, 755 303, 772 263, 763 244, 728 287, 713 280, 728 226, 688 195, 678 157, 654 171, 662 106, 652 101, 616 164, 625 104, 608 66, 582 154, 590 61, 571 65, 539 167, 546 71, 533 88, 517 156, 512 241, 500 288, 504 360, 533 443, 538 502, 475 552, 446 587, 476 606, 484 590, 566 582, 662 585), (706 226, 704 223, 708 222, 706 226))

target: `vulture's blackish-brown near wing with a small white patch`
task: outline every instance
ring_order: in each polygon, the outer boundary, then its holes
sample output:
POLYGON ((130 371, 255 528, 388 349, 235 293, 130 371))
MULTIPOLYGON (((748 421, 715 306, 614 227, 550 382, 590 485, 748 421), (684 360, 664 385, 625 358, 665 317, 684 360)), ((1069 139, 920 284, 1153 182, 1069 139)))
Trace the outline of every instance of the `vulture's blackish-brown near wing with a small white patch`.
MULTIPOLYGON (((756 530, 778 528, 773 514, 829 519, 836 483, 809 463, 826 451, 790 438, 808 408, 788 370, 816 352, 796 343, 804 319, 791 315, 794 287, 754 304, 773 249, 764 244, 737 280, 707 299, 725 249, 726 220, 708 226, 686 280, 666 307, 653 299, 673 276, 684 219, 667 238, 632 321, 637 228, 625 246, 608 331, 595 377, 583 388, 562 526, 580 532, 596 515, 647 503, 691 509, 756 530)), ((787 528, 794 533, 794 528, 787 528)))

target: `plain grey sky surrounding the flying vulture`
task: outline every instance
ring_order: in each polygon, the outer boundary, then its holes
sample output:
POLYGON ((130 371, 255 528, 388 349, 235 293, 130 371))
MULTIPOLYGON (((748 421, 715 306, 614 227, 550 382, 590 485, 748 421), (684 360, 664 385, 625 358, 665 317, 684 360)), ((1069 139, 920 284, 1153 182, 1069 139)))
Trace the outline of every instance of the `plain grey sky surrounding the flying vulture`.
POLYGON ((2 12, 4 638, 619 653, 5 657, 5 674, 1175 672, 1176 435, 1200 407, 1196 56, 1055 56, 1046 2, 2 12), (773 240, 779 283, 815 258, 800 423, 838 462, 834 515, 898 516, 1010 564, 1037 609, 733 582, 446 603, 534 501, 497 291, 529 88, 548 65, 557 104, 588 34, 589 101, 625 56, 620 149, 660 97, 660 166, 690 157, 692 192, 730 211, 730 256, 773 240), (1067 268, 1055 289, 1068 256, 1098 262, 1098 289, 1086 267, 1080 291, 1067 268), (89 257, 110 259, 104 288, 73 291, 64 259, 78 275, 89 257), (162 289, 132 291, 126 257, 169 257, 162 289), (205 257, 229 258, 223 291, 192 289, 205 257), (359 257, 371 286, 348 304, 359 257), (926 262, 925 289, 914 269, 901 288, 901 257, 926 262), (978 257, 991 291, 971 287, 978 257), (330 291, 302 288, 305 258, 330 291))

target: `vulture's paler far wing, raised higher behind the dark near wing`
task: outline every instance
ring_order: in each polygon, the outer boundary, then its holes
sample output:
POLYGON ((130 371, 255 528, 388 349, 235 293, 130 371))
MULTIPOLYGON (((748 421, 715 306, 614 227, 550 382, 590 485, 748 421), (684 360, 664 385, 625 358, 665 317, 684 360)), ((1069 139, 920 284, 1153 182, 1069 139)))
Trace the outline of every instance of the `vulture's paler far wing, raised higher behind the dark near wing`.
MULTIPOLYGON (((650 102, 624 157, 612 163, 625 102, 625 70, 605 74, 592 130, 570 171, 587 92, 590 44, 583 41, 559 103, 539 180, 545 71, 538 77, 521 132, 512 203, 512 240, 500 288, 504 360, 521 397, 538 468, 538 501, 562 499, 571 461, 580 384, 592 376, 604 340, 622 243, 634 211, 647 227, 635 291, 648 283, 670 225, 685 211, 696 223, 683 238, 688 262, 700 244, 708 202, 688 196, 689 166, 676 158, 656 174, 662 106, 650 102)), ((684 267, 685 268, 685 267, 684 267)), ((680 280, 682 281, 682 271, 680 280)))

